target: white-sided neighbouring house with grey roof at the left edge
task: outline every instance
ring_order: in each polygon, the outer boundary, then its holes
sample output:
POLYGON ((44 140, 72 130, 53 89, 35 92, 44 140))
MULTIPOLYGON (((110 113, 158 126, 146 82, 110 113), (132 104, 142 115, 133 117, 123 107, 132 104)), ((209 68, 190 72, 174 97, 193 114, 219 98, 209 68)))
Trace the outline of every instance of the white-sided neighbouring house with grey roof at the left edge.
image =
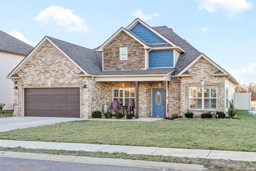
POLYGON ((32 49, 32 46, 0 30, 0 103, 6 104, 4 110, 13 110, 15 86, 5 77, 32 49))

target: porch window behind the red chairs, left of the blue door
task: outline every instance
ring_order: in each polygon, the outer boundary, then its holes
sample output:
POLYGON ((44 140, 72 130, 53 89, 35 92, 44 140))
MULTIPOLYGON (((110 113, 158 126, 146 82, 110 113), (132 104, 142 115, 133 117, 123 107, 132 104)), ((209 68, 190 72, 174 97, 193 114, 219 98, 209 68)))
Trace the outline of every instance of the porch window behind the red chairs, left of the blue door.
POLYGON ((129 101, 134 101, 135 88, 114 88, 113 101, 116 100, 118 105, 127 106, 129 101))

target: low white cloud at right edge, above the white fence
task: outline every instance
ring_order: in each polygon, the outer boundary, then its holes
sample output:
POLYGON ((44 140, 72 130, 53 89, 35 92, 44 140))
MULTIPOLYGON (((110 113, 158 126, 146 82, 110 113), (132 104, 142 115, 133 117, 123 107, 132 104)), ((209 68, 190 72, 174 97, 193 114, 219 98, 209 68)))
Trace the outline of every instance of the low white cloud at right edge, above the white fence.
POLYGON ((236 78, 237 81, 241 81, 248 85, 251 82, 255 83, 256 80, 256 62, 249 62, 247 66, 241 68, 229 69, 230 74, 236 78))

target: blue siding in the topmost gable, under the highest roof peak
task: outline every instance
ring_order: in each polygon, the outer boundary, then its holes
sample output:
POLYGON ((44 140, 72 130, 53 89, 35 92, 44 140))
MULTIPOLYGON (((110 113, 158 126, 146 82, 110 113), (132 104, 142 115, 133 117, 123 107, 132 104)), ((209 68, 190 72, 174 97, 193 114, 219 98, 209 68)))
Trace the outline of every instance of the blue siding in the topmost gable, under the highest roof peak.
POLYGON ((148 28, 143 26, 142 24, 136 24, 131 30, 133 34, 138 36, 141 40, 146 42, 147 44, 160 44, 166 43, 166 41, 162 40, 159 36, 151 32, 148 28))

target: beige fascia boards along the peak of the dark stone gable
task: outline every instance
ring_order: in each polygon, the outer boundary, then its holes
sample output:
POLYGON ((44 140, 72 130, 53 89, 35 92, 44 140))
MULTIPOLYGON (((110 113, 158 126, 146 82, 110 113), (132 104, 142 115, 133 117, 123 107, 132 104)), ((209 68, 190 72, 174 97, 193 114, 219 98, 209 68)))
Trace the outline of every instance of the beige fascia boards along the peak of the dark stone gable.
POLYGON ((119 34, 121 34, 121 32, 125 32, 126 34, 128 34, 129 36, 131 36, 132 38, 134 38, 137 42, 139 42, 140 44, 142 44, 142 46, 144 46, 144 49, 148 49, 148 45, 145 44, 144 42, 142 42, 140 39, 138 39, 137 37, 135 37, 133 34, 131 34, 131 32, 129 32, 128 30, 126 30, 125 28, 121 27, 115 34, 113 34, 113 36, 111 36, 104 44, 102 44, 102 46, 100 46, 97 51, 102 52, 103 49, 110 44, 110 42, 112 42, 119 34))

